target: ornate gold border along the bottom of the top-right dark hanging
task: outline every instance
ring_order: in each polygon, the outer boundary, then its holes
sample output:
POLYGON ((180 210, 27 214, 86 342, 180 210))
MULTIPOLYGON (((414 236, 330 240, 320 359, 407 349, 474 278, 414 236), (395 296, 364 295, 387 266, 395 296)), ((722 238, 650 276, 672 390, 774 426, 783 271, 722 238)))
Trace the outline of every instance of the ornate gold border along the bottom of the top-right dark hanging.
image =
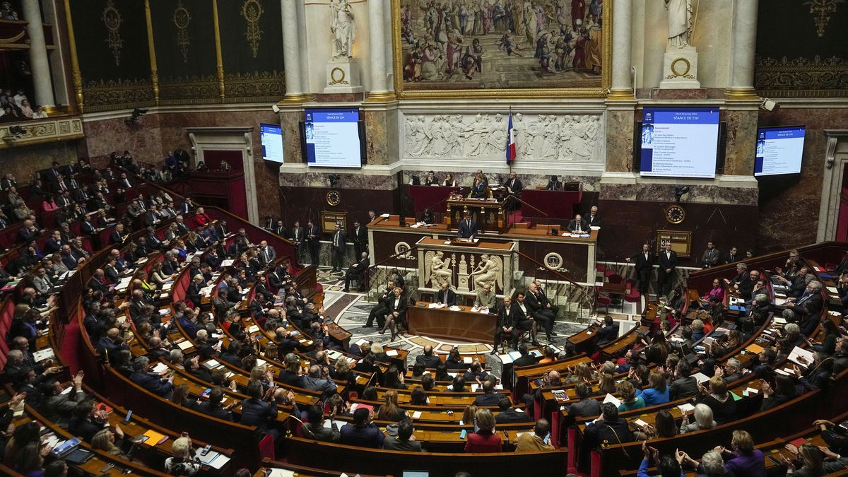
POLYGON ((848 96, 848 60, 756 58, 755 85, 762 95, 795 98, 848 96))

